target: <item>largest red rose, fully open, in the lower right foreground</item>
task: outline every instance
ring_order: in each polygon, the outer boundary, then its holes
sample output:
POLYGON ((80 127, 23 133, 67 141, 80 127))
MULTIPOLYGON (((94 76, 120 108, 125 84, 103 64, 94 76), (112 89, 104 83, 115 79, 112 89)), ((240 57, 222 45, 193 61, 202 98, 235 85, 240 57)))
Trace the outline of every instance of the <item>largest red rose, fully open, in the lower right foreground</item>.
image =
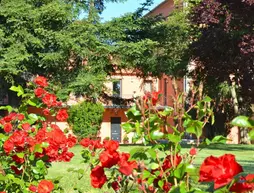
POLYGON ((243 168, 239 165, 235 156, 225 154, 220 157, 207 157, 200 167, 200 182, 214 181, 214 189, 218 189, 230 183, 235 175, 241 173, 243 168))

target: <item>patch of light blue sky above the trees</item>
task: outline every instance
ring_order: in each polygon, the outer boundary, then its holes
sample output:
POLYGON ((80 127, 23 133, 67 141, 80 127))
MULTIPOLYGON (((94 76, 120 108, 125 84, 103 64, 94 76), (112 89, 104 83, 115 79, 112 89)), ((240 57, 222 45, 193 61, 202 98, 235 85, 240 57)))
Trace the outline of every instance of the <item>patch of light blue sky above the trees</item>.
MULTIPOLYGON (((144 2, 145 0, 127 0, 124 3, 107 3, 106 9, 101 14, 102 21, 109 21, 113 17, 119 17, 125 13, 134 12, 140 7, 139 5, 144 2)), ((154 0, 154 4, 150 9, 153 9, 161 2, 163 2, 163 0, 154 0)))

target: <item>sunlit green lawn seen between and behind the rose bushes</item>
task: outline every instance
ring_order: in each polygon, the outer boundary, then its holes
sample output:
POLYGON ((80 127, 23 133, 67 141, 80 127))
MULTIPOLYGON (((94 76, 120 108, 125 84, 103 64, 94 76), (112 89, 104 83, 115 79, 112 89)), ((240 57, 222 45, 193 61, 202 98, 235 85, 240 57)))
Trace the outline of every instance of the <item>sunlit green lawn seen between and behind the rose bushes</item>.
MULTIPOLYGON (((129 152, 136 146, 121 146, 120 151, 129 152)), ((187 151, 189 147, 184 147, 187 151)), ((87 170, 87 165, 81 164, 82 158, 80 156, 81 146, 75 146, 72 151, 75 153, 70 163, 54 163, 53 167, 49 169, 49 178, 63 176, 60 180, 61 186, 65 193, 74 193, 73 187, 79 187, 83 193, 102 193, 111 192, 108 189, 95 190, 90 187, 89 171, 87 175, 81 180, 78 180, 78 175, 68 172, 68 168, 87 170)), ((199 152, 196 158, 196 164, 201 164, 205 157, 214 155, 220 156, 225 153, 231 153, 236 156, 237 161, 244 167, 246 173, 254 173, 254 145, 213 145, 209 148, 203 149, 199 152)))

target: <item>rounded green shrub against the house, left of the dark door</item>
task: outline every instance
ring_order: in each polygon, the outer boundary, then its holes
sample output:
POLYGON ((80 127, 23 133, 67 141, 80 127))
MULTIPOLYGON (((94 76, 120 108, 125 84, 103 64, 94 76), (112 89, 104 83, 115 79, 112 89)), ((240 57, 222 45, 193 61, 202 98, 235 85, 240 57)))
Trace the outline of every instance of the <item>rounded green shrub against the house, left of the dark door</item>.
POLYGON ((101 104, 84 101, 69 108, 68 123, 78 137, 95 137, 100 130, 103 112, 101 104))

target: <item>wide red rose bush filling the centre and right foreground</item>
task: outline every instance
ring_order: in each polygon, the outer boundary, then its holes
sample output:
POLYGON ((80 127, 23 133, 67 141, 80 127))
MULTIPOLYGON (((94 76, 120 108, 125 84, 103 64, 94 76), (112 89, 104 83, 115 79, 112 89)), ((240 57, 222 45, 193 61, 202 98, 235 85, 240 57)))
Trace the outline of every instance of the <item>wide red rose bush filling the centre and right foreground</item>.
POLYGON ((158 108, 159 93, 147 93, 137 99, 136 105, 126 112, 128 122, 122 124, 127 134, 134 133, 134 143, 143 142, 149 147, 120 153, 116 141, 104 140, 100 143, 85 138, 80 142, 85 148, 82 156, 91 167, 92 187, 102 188, 107 184, 115 192, 123 193, 131 192, 131 187, 144 193, 202 193, 211 189, 212 192, 252 191, 254 175, 237 177, 243 168, 232 154, 209 156, 200 168, 195 164, 199 147, 227 140, 216 136, 212 140, 203 140, 201 144, 199 142, 204 126, 213 122, 212 100, 207 96, 190 100, 193 104, 184 110, 184 95, 176 94, 175 108, 158 108), (197 102, 194 104, 194 101, 197 102), (195 119, 188 114, 193 109, 198 112, 195 119), (181 139, 186 133, 195 135, 197 144, 183 153, 181 139), (196 186, 198 183, 212 183, 212 187, 201 190, 196 186))

